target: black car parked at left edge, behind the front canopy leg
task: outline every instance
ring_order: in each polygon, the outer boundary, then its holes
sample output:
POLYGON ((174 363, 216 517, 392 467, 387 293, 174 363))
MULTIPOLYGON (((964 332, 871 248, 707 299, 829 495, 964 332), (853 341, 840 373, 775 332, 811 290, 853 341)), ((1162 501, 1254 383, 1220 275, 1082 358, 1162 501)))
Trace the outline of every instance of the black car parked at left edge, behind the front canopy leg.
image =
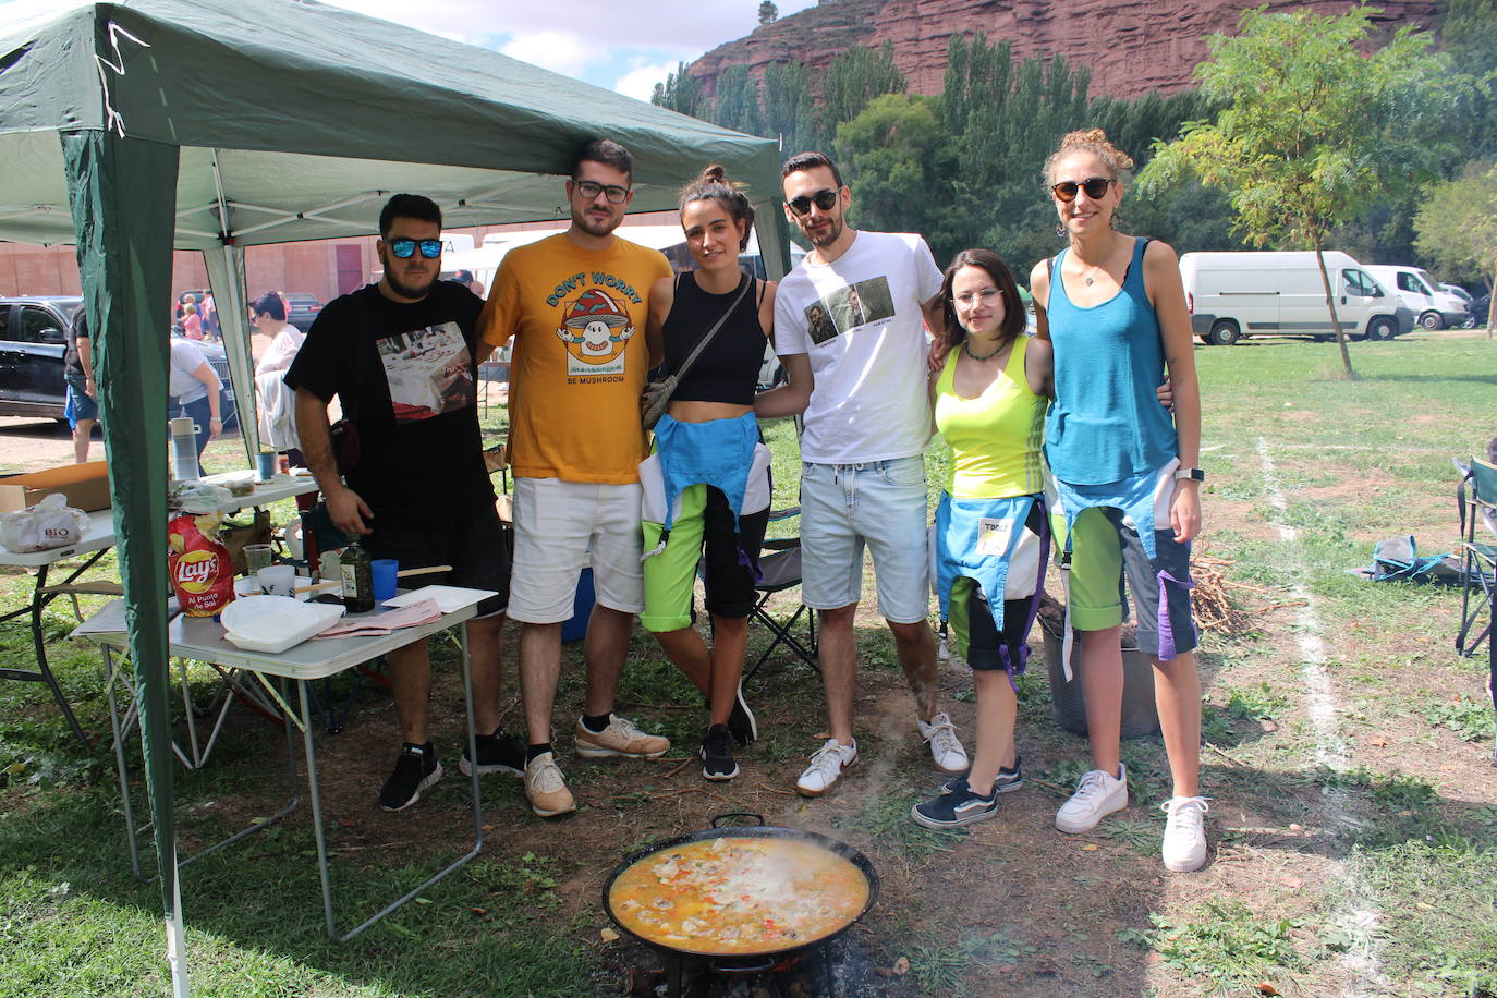
MULTIPOLYGON (((0 416, 63 419, 67 407, 63 355, 82 301, 78 295, 0 298, 0 416)), ((223 382, 223 431, 237 432, 240 416, 223 347, 195 346, 223 382)))

